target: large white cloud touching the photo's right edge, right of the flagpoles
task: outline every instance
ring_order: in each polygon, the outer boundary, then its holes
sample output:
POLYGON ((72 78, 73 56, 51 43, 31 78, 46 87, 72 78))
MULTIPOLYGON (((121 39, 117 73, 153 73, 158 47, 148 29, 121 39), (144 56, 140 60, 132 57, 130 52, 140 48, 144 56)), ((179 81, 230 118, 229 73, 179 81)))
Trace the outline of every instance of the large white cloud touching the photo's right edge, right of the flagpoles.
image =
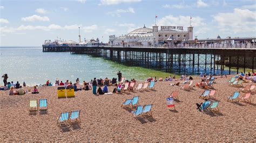
POLYGON ((256 32, 255 11, 234 9, 232 13, 218 13, 213 19, 221 32, 256 32))

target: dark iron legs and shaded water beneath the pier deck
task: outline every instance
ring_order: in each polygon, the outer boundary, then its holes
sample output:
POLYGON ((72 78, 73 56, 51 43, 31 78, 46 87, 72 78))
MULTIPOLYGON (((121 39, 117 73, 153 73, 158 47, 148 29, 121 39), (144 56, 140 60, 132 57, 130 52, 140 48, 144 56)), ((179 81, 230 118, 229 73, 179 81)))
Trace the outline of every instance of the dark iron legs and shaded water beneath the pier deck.
POLYGON ((223 75, 256 67, 256 48, 73 46, 70 52, 179 74, 223 75))

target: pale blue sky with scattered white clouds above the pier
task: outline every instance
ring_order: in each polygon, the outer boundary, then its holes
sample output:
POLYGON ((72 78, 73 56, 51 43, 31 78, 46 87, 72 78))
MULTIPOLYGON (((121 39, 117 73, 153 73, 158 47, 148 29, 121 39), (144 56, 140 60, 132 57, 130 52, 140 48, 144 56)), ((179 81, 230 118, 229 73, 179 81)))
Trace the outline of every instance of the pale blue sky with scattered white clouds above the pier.
POLYGON ((136 28, 194 26, 198 39, 256 37, 256 0, 0 0, 0 46, 44 40, 108 42, 136 28))

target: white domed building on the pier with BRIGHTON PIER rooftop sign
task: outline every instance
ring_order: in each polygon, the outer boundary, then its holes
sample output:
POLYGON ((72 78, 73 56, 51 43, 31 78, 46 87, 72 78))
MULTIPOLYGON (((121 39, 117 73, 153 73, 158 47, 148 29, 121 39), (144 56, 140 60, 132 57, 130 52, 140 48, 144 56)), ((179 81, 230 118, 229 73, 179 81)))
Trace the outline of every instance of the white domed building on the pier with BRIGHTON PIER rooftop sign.
POLYGON ((116 46, 151 46, 163 45, 165 43, 180 43, 183 40, 193 39, 193 27, 187 27, 184 31, 183 26, 159 26, 154 25, 152 28, 147 28, 145 25, 142 28, 133 30, 132 32, 116 37, 109 36, 109 44, 116 46))

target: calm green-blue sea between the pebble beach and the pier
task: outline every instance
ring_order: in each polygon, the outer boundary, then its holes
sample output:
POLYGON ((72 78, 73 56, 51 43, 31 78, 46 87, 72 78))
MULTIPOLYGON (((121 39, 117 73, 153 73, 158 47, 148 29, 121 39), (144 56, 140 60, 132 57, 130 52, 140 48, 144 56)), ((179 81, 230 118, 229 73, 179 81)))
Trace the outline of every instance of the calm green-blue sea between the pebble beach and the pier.
MULTIPOLYGON (((60 81, 90 81, 96 78, 117 78, 117 72, 128 80, 146 80, 147 77, 166 77, 170 73, 122 64, 90 55, 70 52, 42 52, 42 47, 0 47, 0 74, 8 74, 8 82, 25 82, 27 85, 45 84, 56 78, 60 81)), ((3 80, 3 78, 2 78, 3 80)), ((2 80, 0 85, 3 85, 2 80)))

